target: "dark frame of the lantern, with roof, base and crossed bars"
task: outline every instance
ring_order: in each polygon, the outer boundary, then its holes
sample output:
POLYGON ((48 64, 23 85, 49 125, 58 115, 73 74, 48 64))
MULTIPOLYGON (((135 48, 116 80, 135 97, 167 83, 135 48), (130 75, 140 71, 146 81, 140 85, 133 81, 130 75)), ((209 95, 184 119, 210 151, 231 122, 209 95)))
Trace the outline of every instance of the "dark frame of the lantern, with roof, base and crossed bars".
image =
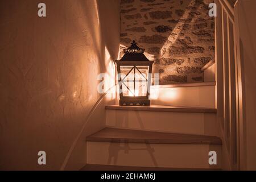
MULTIPOLYGON (((154 63, 154 61, 150 61, 146 58, 146 56, 144 56, 144 49, 141 49, 139 47, 136 46, 137 43, 135 43, 133 41, 133 43, 131 43, 132 46, 128 49, 125 49, 125 55, 122 57, 121 60, 116 60, 115 63, 117 64, 117 72, 118 72, 118 85, 119 85, 119 96, 120 96, 120 100, 119 100, 119 105, 146 105, 149 106, 150 105, 150 100, 149 100, 149 96, 150 96, 150 86, 151 86, 151 75, 152 75, 152 64, 154 63), (147 73, 147 78, 146 78, 146 82, 147 82, 147 93, 146 96, 135 96, 135 86, 134 86, 134 96, 123 96, 123 83, 125 82, 125 80, 122 80, 122 76, 121 76, 121 67, 122 66, 127 66, 127 67, 131 67, 131 71, 134 69, 137 69, 139 71, 139 66, 147 66, 148 67, 148 73, 147 73)), ((130 72, 131 72, 130 71, 130 72)), ((126 77, 130 74, 127 73, 126 77)), ((139 71, 141 74, 142 72, 139 71)), ((143 74, 142 74, 143 75, 143 74)), ((125 78, 126 78, 125 77, 125 78)), ((135 85, 135 76, 134 76, 134 85, 135 85)), ((128 86, 126 85, 127 89, 128 86)), ((130 89, 129 89, 130 90, 130 89)), ((130 90, 131 92, 131 90, 130 90)))

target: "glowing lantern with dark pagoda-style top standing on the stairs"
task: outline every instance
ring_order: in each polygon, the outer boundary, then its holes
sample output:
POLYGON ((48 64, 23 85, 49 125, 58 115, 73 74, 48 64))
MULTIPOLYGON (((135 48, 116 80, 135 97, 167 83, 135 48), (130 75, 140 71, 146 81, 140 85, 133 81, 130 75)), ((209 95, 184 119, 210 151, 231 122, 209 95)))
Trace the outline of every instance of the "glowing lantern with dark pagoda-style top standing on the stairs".
POLYGON ((150 105, 152 64, 144 55, 145 49, 133 41, 124 49, 125 55, 115 61, 118 71, 119 105, 150 105))

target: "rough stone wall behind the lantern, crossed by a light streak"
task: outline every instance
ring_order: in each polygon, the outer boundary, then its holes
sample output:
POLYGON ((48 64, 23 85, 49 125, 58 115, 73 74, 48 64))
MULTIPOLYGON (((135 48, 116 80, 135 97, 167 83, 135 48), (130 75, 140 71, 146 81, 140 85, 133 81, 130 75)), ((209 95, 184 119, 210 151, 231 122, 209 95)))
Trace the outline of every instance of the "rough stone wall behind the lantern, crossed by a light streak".
POLYGON ((214 18, 209 0, 122 0, 121 48, 135 40, 154 60, 159 84, 201 82, 214 58, 214 18))

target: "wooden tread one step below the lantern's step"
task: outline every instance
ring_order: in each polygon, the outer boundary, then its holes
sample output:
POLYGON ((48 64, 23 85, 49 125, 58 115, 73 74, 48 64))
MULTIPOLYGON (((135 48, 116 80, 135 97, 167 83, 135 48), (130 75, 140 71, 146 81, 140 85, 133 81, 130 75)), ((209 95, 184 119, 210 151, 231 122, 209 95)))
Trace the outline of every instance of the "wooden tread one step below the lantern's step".
POLYGON ((86 138, 88 142, 130 142, 159 144, 221 144, 214 136, 162 133, 130 129, 102 129, 86 138))

